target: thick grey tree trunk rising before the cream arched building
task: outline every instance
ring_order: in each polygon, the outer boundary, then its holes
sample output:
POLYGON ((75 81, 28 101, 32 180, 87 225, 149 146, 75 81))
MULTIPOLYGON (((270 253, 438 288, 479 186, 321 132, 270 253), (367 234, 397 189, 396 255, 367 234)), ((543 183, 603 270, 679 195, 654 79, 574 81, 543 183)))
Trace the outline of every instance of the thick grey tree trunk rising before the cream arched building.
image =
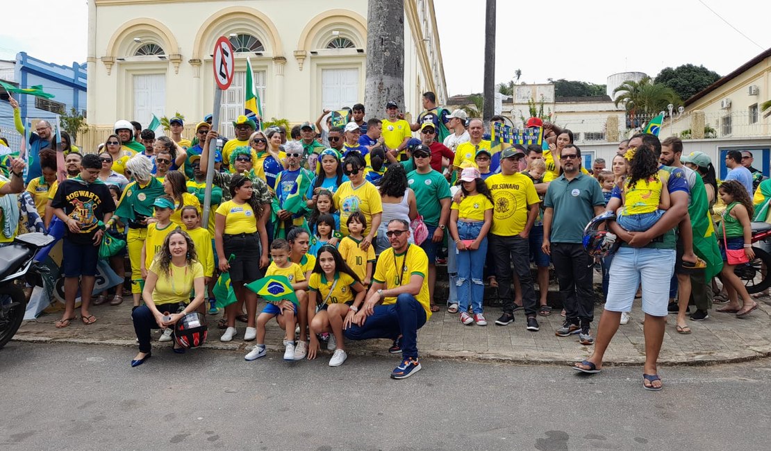
POLYGON ((389 100, 404 112, 404 0, 369 0, 367 117, 381 117, 389 100))

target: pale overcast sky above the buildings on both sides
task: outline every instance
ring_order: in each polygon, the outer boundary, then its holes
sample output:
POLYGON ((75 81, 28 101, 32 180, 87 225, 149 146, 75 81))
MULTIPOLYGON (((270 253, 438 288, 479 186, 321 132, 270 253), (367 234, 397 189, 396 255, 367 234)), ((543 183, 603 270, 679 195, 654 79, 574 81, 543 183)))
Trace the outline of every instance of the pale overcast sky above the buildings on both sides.
MULTIPOLYGON (((496 83, 513 79, 517 68, 520 82, 527 83, 569 79, 604 84, 614 73, 655 76, 662 68, 688 63, 726 75, 771 47, 771 2, 763 0, 537 3, 544 11, 528 5, 497 2, 496 83)), ((449 95, 481 92, 485 1, 434 0, 434 8, 449 95)), ((25 2, 8 2, 3 12, 18 20, 5 20, 0 27, 0 59, 24 51, 63 65, 86 61, 86 0, 35 2, 35 26, 63 25, 64 32, 29 33, 25 2)))

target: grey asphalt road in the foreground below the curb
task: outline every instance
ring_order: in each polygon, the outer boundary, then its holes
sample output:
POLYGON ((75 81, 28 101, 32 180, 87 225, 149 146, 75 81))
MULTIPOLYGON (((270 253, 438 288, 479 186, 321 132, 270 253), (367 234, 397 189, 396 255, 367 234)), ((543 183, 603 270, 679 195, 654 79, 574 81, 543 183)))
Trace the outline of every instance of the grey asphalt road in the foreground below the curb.
POLYGON ((768 449, 771 361, 579 376, 561 366, 11 342, 2 449, 768 449))

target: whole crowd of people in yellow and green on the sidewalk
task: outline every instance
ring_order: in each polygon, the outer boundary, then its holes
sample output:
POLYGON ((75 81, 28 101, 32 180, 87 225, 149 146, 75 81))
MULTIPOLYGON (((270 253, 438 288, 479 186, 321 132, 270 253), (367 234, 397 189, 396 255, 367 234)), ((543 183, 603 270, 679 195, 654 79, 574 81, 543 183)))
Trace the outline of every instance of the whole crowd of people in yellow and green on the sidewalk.
MULTIPOLYGON (((726 306, 717 311, 737 317, 756 309, 733 272, 753 258, 753 210, 765 214, 771 200, 771 184, 752 168, 751 153, 728 152, 729 174, 718 185, 708 155, 684 155, 677 138, 660 142, 638 133, 621 142, 610 168, 604 159, 583 168, 572 132, 556 124, 530 118, 524 127, 542 129, 543 142, 510 145, 491 141, 481 119, 436 105, 433 92, 423 95, 423 107, 410 123, 396 102, 388 102, 384 119, 369 120, 356 104, 342 126, 325 110, 315 124, 289 132, 261 129, 241 115, 231 139, 212 128, 210 115, 192 139, 183 137, 180 118, 170 119, 169 136, 120 120, 99 149, 83 152, 69 142, 65 152, 50 149, 51 125, 40 121, 29 167, 9 160, 0 178, 0 246, 19 232, 19 208, 9 205, 15 193, 19 204, 31 199, 45 231, 63 230, 66 306, 56 327, 64 328, 77 318, 78 292, 85 325, 97 321, 91 306, 123 302, 122 285, 92 301, 103 237, 123 239, 125 249, 109 264, 120 275, 126 257, 130 266, 139 343, 132 366, 151 356, 150 329, 163 329, 160 341, 172 341, 184 315, 217 313, 214 286, 225 273, 236 301, 217 322, 220 339, 243 334, 255 342, 246 360, 266 355, 266 326, 276 319, 291 361, 315 359, 326 346, 329 365, 339 366, 347 358, 345 339, 391 339, 389 352, 402 354, 395 379, 421 368, 417 330, 440 303, 462 325, 487 325, 486 284, 502 301, 497 326, 512 324, 521 310, 527 330, 538 332, 538 316, 553 314, 551 267, 564 305, 554 332, 594 345, 574 367, 579 371, 600 371, 608 342, 641 297, 646 389, 662 388, 656 360, 668 312, 677 313, 677 332, 691 333, 689 303, 694 321, 709 318, 719 299, 726 306), (59 182, 62 170, 66 179, 59 182), (204 212, 209 172, 214 184, 204 212), (715 203, 725 206, 718 225, 715 203), (597 258, 587 252, 584 227, 606 211, 604 227, 618 249, 597 258), (715 259, 710 252, 719 241, 722 259, 715 259), (435 296, 437 266, 446 266, 447 299, 435 296), (596 339, 595 266, 605 302, 596 339), (267 302, 258 313, 257 293, 247 285, 266 276, 285 276, 295 296, 267 302)), ((185 350, 177 342, 173 349, 185 350)))

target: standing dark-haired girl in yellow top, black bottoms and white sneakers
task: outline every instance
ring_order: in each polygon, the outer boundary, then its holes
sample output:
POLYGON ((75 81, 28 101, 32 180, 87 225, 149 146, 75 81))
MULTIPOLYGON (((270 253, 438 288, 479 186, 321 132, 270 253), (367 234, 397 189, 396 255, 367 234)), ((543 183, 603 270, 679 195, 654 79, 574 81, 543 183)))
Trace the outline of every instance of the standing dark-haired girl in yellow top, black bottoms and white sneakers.
POLYGON ((263 205, 252 192, 251 180, 244 175, 233 175, 230 192, 232 199, 222 202, 214 216, 214 246, 219 269, 230 272, 231 284, 239 302, 225 307, 227 329, 220 340, 229 342, 236 335, 236 317, 241 314, 241 304, 245 302, 247 329, 244 339, 251 341, 257 337, 257 294, 246 289, 244 284, 264 275, 263 268, 269 263, 268 234, 265 232, 263 205))

